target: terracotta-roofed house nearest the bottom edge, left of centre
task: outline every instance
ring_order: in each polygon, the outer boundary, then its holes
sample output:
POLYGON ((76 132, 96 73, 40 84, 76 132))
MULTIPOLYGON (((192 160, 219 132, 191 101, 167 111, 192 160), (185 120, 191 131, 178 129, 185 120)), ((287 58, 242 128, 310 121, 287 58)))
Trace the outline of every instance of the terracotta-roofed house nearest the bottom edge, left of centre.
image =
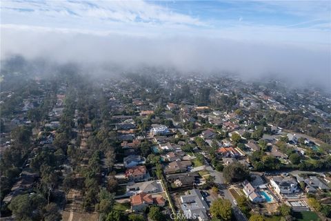
POLYGON ((150 205, 164 206, 165 200, 161 195, 156 198, 152 198, 151 194, 139 193, 130 197, 132 211, 143 211, 150 205))

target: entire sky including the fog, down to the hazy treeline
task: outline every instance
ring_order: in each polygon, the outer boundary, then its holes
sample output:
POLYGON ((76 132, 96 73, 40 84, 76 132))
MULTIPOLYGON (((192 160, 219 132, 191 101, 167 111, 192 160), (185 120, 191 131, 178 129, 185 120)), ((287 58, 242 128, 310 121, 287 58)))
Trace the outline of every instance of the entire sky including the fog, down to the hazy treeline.
POLYGON ((331 1, 4 0, 1 59, 12 54, 330 83, 331 1))

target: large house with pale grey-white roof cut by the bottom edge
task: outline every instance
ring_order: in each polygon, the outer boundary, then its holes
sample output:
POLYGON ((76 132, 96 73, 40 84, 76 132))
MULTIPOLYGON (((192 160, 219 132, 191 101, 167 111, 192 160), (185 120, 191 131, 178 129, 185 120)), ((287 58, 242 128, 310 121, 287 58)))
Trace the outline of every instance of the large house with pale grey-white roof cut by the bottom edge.
POLYGON ((185 195, 181 195, 180 199, 181 210, 185 218, 200 221, 209 220, 207 215, 209 206, 198 189, 191 189, 185 195))

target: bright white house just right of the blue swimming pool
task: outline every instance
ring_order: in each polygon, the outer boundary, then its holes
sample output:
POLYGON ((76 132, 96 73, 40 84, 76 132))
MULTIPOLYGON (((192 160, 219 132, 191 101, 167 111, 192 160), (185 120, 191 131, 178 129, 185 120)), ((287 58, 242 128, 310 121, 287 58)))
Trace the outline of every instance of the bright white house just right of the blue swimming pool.
POLYGON ((276 176, 272 177, 270 184, 278 194, 292 194, 299 192, 298 183, 292 177, 276 176))

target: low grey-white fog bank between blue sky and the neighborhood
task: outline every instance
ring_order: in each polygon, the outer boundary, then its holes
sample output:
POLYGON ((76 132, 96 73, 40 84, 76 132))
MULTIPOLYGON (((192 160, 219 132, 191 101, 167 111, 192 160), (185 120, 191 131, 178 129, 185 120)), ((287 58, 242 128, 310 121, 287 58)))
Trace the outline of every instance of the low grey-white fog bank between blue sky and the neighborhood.
POLYGON ((279 77, 290 84, 330 87, 328 47, 233 41, 213 37, 138 37, 1 28, 1 60, 13 55, 54 64, 73 62, 89 75, 116 74, 143 66, 180 73, 234 73, 243 79, 279 77))

